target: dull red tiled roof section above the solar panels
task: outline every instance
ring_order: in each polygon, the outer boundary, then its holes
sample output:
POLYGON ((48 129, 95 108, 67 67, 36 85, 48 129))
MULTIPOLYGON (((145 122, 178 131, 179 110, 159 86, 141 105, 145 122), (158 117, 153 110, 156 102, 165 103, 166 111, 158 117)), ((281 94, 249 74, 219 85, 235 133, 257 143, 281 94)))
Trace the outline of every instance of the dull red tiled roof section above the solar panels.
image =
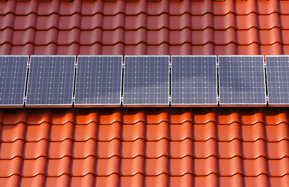
POLYGON ((39 1, 0 2, 0 54, 289 53, 289 1, 39 1))

